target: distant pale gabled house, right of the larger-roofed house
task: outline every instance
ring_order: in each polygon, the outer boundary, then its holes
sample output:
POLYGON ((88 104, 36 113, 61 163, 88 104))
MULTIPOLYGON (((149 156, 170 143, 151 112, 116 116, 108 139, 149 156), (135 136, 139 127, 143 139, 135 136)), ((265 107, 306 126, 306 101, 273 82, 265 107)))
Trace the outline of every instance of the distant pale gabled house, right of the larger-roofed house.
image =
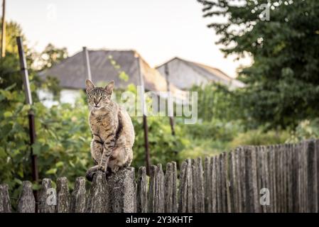
POLYGON ((202 85, 209 82, 220 82, 232 89, 244 87, 242 82, 229 77, 225 72, 215 67, 190 62, 180 57, 174 57, 172 60, 156 67, 156 69, 163 75, 166 75, 167 70, 166 78, 170 84, 175 85, 178 89, 190 89, 194 84, 202 85))

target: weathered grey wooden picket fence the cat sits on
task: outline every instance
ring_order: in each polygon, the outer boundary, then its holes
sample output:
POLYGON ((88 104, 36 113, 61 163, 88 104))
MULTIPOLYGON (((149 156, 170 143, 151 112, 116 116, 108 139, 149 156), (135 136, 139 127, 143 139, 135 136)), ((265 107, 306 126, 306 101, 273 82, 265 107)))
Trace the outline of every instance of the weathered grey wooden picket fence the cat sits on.
MULTIPOLYGON (((245 146, 214 157, 152 165, 150 176, 133 167, 105 177, 98 172, 89 190, 78 177, 42 180, 38 212, 318 212, 319 140, 298 144, 245 146), (204 165, 203 165, 204 164, 204 165), (87 192, 88 191, 88 192, 87 192)), ((23 182, 17 212, 35 212, 31 182, 23 182)), ((11 212, 6 184, 0 212, 11 212)))

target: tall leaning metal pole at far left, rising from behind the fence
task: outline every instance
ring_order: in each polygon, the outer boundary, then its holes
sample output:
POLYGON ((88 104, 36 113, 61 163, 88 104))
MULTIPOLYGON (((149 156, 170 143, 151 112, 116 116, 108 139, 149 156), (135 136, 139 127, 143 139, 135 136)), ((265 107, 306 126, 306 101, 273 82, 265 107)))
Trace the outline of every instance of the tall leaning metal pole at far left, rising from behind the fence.
MULTIPOLYGON (((18 44, 18 54, 20 59, 20 67, 21 67, 21 74, 23 77, 23 85, 24 85, 24 92, 26 93, 26 103, 32 105, 32 96, 31 96, 31 89, 30 83, 28 78, 28 70, 26 67, 26 55, 23 51, 22 39, 21 37, 16 38, 16 43, 18 44)), ((33 154, 32 145, 36 142, 36 126, 34 122, 34 113, 32 109, 28 112, 28 121, 29 121, 29 134, 30 134, 30 143, 31 143, 31 168, 32 168, 32 179, 34 182, 38 182, 38 162, 37 156, 33 154)), ((33 192, 36 201, 38 201, 37 192, 33 192)), ((36 204, 37 208, 37 204, 36 204)), ((37 211, 38 209, 36 209, 37 211)))

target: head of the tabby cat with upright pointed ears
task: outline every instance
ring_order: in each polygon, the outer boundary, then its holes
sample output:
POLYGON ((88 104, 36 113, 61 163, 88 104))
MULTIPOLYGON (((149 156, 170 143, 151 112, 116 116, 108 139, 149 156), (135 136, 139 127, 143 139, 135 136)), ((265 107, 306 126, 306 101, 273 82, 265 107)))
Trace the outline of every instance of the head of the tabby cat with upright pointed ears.
POLYGON ((111 102, 111 97, 114 89, 114 81, 109 82, 106 87, 95 87, 90 79, 85 81, 87 91, 87 102, 90 109, 99 110, 107 108, 111 102))

